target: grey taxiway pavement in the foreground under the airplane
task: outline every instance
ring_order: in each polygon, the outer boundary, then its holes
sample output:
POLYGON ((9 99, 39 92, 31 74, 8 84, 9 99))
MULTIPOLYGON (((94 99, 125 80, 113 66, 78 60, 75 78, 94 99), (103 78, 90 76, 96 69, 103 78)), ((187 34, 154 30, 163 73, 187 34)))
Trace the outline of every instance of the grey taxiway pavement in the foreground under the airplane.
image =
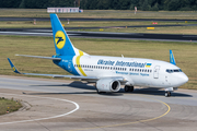
POLYGON ((164 97, 164 91, 136 87, 134 93, 121 90, 99 95, 94 86, 82 82, 0 75, 2 96, 22 99, 26 107, 0 116, 0 131, 197 130, 197 91, 178 90, 172 97, 164 97), (39 120, 76 108, 56 98, 72 100, 79 109, 68 116, 39 120))

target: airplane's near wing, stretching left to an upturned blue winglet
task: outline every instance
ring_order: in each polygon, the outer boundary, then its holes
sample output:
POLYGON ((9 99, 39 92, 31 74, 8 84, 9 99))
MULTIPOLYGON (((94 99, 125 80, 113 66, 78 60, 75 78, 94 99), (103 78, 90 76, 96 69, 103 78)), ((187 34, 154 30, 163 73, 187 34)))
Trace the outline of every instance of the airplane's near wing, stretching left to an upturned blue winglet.
MULTIPOLYGON (((81 75, 61 75, 61 74, 39 74, 39 73, 21 73, 18 71, 18 69, 14 67, 12 61, 8 58, 8 61, 13 70, 13 72, 19 73, 19 74, 25 74, 25 75, 37 75, 37 76, 51 76, 51 78, 69 78, 69 79, 76 79, 76 80, 81 80, 81 81, 88 81, 95 83, 100 79, 105 79, 105 78, 96 78, 96 76, 81 76, 81 75)), ((127 81, 121 78, 121 76, 111 76, 112 79, 118 80, 121 83, 126 83, 127 81)))

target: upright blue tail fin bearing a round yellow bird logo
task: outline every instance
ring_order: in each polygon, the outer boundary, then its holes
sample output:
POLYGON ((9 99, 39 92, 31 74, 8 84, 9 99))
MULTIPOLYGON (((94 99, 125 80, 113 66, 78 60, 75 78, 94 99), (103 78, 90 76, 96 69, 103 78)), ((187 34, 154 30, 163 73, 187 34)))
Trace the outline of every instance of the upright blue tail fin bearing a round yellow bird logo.
POLYGON ((56 14, 50 14, 50 22, 54 34, 54 44, 57 56, 76 56, 78 49, 76 49, 70 41, 65 28, 61 25, 56 14))

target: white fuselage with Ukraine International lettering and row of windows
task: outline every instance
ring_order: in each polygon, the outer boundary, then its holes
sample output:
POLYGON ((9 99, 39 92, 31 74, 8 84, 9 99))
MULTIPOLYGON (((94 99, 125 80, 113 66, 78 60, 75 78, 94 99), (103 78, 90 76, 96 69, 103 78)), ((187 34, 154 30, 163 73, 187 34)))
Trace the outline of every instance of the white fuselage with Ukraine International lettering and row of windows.
POLYGON ((149 87, 177 87, 185 84, 188 78, 172 63, 141 58, 121 58, 103 56, 81 56, 72 63, 80 75, 109 78, 123 76, 127 85, 149 87), (170 70, 170 71, 169 71, 170 70))

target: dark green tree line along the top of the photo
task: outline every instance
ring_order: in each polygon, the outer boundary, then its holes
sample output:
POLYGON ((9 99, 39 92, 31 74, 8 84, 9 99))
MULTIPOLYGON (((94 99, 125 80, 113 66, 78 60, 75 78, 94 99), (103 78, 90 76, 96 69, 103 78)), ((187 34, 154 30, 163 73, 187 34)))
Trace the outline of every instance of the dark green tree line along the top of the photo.
MULTIPOLYGON (((80 0, 84 10, 195 11, 197 0, 80 0)), ((78 0, 0 0, 0 8, 46 9, 78 7, 78 0)))

